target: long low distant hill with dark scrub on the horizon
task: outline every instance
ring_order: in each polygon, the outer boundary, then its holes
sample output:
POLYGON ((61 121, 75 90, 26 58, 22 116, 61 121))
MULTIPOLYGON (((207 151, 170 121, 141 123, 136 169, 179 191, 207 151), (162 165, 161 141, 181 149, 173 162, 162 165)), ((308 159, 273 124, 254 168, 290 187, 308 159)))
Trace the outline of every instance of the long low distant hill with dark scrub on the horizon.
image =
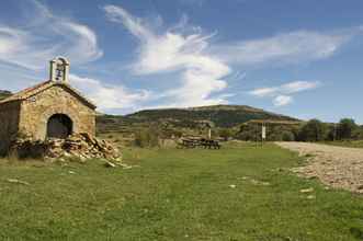
POLYGON ((99 115, 99 133, 128 133, 154 124, 166 128, 196 128, 211 120, 216 127, 236 127, 252 119, 298 120, 247 105, 212 105, 191 108, 159 108, 139 111, 125 116, 99 115))

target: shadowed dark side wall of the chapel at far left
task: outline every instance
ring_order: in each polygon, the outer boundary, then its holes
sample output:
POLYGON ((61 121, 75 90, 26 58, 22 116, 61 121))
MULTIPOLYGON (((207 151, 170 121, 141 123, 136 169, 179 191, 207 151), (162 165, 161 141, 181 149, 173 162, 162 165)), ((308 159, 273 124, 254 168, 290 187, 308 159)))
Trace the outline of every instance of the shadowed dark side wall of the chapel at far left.
POLYGON ((20 102, 0 104, 0 156, 8 152, 11 138, 18 134, 19 115, 20 102))

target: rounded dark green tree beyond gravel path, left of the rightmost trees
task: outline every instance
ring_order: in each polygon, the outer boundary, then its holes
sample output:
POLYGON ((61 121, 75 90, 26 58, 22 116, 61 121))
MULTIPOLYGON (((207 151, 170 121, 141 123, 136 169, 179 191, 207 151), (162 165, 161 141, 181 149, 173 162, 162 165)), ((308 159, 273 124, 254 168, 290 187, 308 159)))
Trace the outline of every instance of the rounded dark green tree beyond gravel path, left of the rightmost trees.
POLYGON ((306 123, 299 134, 298 140, 302 141, 321 141, 327 135, 327 125, 319 119, 311 119, 306 123))

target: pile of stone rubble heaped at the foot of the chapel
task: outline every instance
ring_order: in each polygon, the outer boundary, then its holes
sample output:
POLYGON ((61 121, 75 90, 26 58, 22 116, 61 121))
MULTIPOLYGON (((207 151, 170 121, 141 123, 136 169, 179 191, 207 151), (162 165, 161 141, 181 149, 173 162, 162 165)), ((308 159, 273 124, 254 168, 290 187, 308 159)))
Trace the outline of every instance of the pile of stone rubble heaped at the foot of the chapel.
POLYGON ((18 158, 42 158, 49 161, 77 160, 86 162, 91 159, 105 160, 112 163, 121 163, 122 156, 105 140, 100 140, 88 134, 75 134, 67 139, 49 138, 45 141, 31 138, 18 138, 11 147, 11 153, 18 158))

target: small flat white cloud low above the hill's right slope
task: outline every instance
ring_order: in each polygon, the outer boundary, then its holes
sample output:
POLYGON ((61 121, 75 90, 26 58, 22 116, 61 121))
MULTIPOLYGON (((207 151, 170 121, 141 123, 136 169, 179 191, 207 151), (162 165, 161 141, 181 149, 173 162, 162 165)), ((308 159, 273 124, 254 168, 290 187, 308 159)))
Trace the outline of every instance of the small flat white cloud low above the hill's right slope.
POLYGON ((314 90, 319 85, 319 81, 293 81, 279 87, 258 88, 249 91, 249 94, 257 97, 271 97, 275 106, 283 106, 293 102, 293 94, 314 90))

